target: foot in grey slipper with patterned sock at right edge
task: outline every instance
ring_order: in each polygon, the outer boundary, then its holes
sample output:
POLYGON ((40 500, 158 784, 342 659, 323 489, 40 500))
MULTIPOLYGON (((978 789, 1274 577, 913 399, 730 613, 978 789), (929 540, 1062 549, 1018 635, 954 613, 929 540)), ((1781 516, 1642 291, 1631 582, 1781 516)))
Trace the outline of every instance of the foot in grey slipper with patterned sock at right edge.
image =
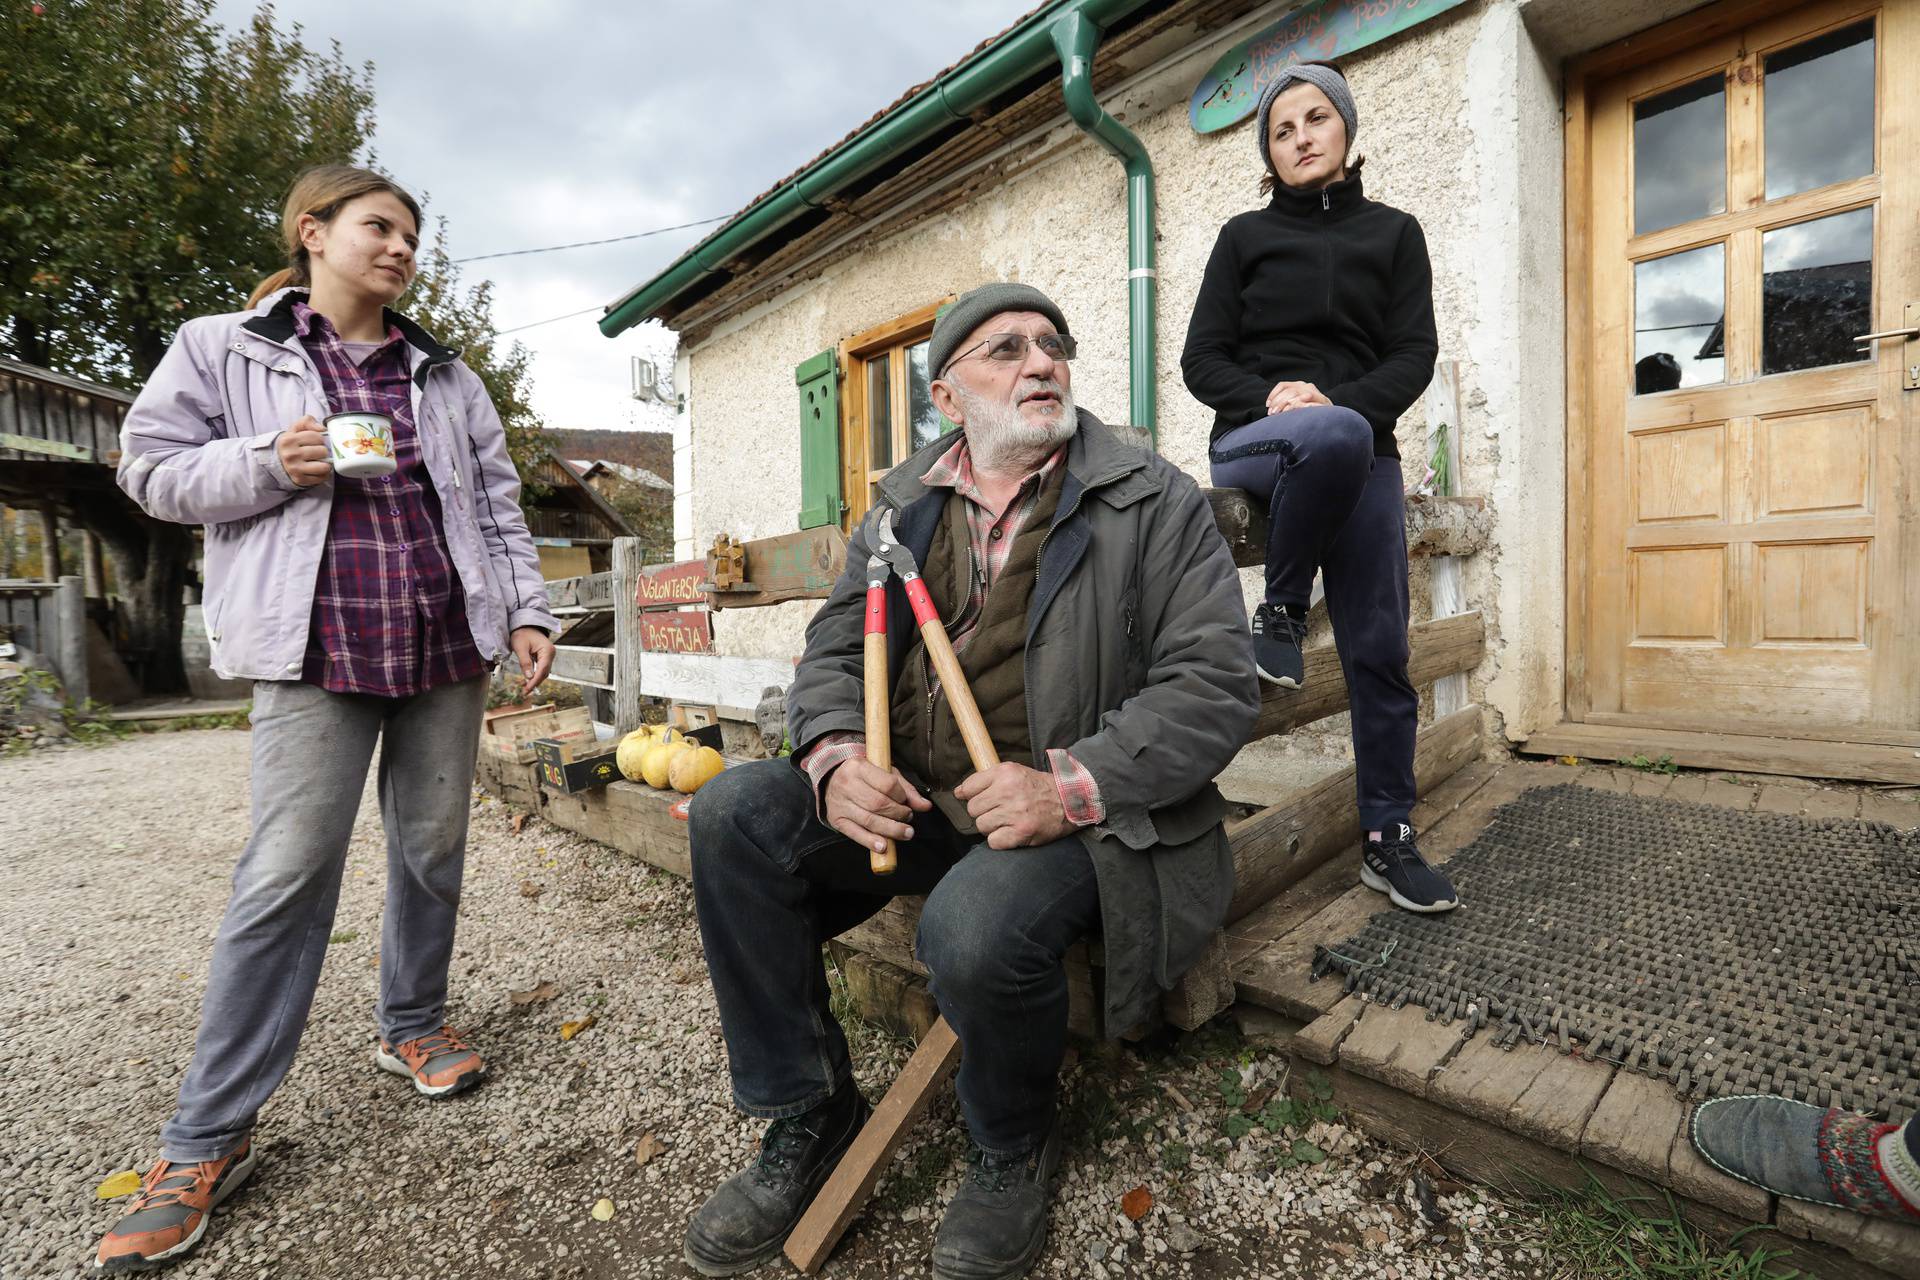
POLYGON ((1693 1107, 1709 1165, 1774 1196, 1920 1222, 1920 1161, 1899 1125, 1791 1098, 1715 1098, 1693 1107))

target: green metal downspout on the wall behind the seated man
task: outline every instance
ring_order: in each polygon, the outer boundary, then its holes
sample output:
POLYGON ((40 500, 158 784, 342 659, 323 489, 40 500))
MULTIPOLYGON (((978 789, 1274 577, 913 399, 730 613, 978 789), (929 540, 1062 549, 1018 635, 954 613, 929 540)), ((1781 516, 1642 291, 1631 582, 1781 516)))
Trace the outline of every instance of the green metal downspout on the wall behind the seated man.
POLYGON ((1092 50, 1102 35, 1098 23, 1075 8, 1056 17, 1050 31, 1060 52, 1060 88, 1068 100, 1068 115, 1127 167, 1127 409, 1129 422, 1146 428, 1158 445, 1154 161, 1133 130, 1108 115, 1092 96, 1092 50))

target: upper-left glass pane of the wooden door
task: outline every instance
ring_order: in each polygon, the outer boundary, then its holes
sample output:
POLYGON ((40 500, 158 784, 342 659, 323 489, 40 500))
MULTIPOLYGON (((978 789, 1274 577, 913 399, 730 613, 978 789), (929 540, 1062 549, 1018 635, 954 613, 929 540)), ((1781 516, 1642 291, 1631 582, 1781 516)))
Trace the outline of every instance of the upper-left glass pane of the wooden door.
POLYGON ((1726 77, 1634 104, 1634 232, 1726 213, 1726 77))

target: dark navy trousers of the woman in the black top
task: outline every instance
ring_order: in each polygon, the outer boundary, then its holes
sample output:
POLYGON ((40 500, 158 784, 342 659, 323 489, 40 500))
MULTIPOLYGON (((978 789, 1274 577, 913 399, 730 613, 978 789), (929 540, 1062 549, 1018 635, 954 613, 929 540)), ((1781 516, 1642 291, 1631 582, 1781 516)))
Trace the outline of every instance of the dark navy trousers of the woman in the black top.
POLYGON ((1384 831, 1413 810, 1419 695, 1407 679, 1407 528, 1400 459, 1373 457, 1352 409, 1313 405, 1213 441, 1213 484, 1267 499, 1267 603, 1306 606, 1313 570, 1354 710, 1359 821, 1384 831))

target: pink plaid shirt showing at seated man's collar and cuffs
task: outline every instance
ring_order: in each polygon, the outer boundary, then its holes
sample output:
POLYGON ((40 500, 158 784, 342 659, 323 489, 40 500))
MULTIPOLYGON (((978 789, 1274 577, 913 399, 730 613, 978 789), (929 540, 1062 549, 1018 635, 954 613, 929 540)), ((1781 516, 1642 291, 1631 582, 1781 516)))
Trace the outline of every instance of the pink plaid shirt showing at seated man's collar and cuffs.
MULTIPOLYGON (((952 449, 943 453, 927 468, 927 474, 920 478, 920 484, 929 489, 952 489, 966 499, 968 543, 973 551, 973 562, 981 566, 981 572, 972 576, 972 589, 968 591, 966 604, 960 606, 960 614, 945 620, 954 652, 964 651, 968 641, 973 639, 981 610, 987 606, 989 587, 993 587, 1000 570, 1006 568, 1006 558, 1014 551, 1014 539, 1020 535, 1020 528, 1027 522, 1027 516, 1033 514, 1041 486, 1046 484, 1046 478, 1056 468, 1066 464, 1066 457, 1068 451, 1062 445, 1037 472, 1020 482, 1020 489, 1000 514, 995 514, 987 507, 987 499, 981 497, 979 487, 973 484, 973 455, 966 447, 966 436, 956 439, 952 449)), ((826 810, 828 773, 854 756, 866 758, 866 735, 841 731, 824 735, 801 758, 801 768, 806 770, 806 777, 814 783, 814 794, 820 800, 822 812, 826 810)), ((1091 827, 1106 818, 1100 787, 1079 760, 1066 750, 1050 748, 1046 752, 1046 768, 1054 777, 1054 789, 1060 793, 1060 808, 1066 810, 1068 821, 1075 827, 1091 827)))

